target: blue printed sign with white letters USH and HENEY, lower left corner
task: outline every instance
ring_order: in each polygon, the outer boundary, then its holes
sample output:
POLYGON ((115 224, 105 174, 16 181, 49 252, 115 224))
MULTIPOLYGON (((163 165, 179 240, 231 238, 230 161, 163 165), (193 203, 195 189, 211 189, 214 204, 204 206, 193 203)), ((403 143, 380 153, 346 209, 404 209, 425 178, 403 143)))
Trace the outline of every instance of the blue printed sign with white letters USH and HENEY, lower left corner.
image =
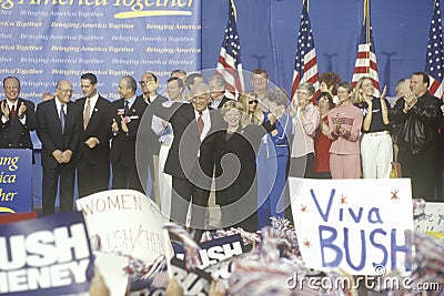
POLYGON ((92 257, 81 213, 61 213, 1 226, 0 295, 88 292, 92 257))

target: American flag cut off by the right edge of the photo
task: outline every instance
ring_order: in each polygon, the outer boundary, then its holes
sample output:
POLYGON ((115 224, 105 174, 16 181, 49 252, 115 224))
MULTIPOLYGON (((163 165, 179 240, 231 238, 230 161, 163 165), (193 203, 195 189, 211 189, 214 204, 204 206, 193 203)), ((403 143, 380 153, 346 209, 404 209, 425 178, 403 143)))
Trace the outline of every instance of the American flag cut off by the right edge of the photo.
POLYGON ((443 98, 443 75, 444 75, 444 51, 443 51, 443 27, 440 14, 440 0, 435 1, 433 18, 428 34, 427 57, 425 61, 425 72, 430 74, 430 93, 437 98, 443 98))

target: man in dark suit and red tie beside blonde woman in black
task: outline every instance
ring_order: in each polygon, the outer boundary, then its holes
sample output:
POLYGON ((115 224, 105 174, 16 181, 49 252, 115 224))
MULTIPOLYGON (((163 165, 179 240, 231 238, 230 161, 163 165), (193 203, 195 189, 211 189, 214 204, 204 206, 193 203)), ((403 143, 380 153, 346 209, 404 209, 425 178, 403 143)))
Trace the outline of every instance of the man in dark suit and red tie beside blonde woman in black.
POLYGON ((218 126, 208 108, 206 84, 196 83, 190 94, 191 104, 175 103, 155 110, 155 115, 169 121, 174 134, 164 167, 172 176, 171 220, 185 225, 192 202, 191 227, 195 229, 194 239, 200 241, 214 167, 213 142, 203 140, 218 126))

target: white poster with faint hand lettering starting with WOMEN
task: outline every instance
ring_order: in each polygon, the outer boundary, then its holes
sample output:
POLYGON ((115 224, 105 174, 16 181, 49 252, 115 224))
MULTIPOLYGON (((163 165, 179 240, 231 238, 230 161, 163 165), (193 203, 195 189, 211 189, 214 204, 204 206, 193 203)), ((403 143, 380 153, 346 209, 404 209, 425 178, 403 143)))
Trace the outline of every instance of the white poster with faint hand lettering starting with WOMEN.
POLYGON ((122 252, 147 263, 172 257, 162 229, 167 218, 145 195, 132 190, 104 191, 77 201, 92 241, 103 252, 122 252), (99 238, 99 239, 98 239, 99 238))

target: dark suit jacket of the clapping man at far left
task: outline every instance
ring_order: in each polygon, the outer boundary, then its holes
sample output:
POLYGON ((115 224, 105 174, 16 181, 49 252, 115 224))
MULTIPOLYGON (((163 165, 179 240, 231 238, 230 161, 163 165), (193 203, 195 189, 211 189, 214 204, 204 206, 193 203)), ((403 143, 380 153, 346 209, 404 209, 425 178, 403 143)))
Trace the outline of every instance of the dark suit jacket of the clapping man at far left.
MULTIPOLYGON (((6 102, 6 100, 0 103, 3 102, 6 102)), ((9 114, 9 120, 4 124, 1 123, 0 147, 2 149, 32 149, 30 131, 37 127, 36 105, 31 101, 19 98, 17 102, 17 113, 21 103, 24 103, 27 106, 27 111, 24 112, 27 116, 26 124, 21 124, 18 115, 12 120, 11 114, 9 114)))

